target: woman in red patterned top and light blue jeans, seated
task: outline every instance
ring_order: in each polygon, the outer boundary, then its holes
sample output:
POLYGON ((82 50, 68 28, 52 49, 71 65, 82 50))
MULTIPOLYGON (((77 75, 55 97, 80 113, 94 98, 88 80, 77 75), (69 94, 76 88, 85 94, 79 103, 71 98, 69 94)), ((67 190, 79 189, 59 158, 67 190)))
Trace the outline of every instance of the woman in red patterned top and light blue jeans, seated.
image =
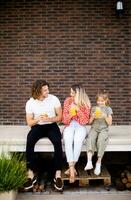
POLYGON ((73 85, 70 97, 64 101, 62 121, 66 125, 63 132, 65 154, 69 169, 65 171, 69 175, 69 182, 75 181, 77 163, 83 141, 87 135, 86 124, 89 121, 90 100, 85 89, 80 85, 73 85))

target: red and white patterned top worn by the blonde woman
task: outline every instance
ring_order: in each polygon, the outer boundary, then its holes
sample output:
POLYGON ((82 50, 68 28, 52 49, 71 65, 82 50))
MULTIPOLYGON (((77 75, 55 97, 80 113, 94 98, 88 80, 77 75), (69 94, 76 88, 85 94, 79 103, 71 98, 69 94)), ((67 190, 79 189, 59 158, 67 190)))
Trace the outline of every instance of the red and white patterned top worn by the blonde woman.
POLYGON ((89 117, 90 117, 90 108, 86 106, 79 107, 76 115, 71 118, 70 109, 72 103, 74 103, 72 97, 67 97, 66 100, 64 101, 62 122, 66 125, 69 125, 72 120, 76 120, 81 125, 87 124, 89 122, 89 117))

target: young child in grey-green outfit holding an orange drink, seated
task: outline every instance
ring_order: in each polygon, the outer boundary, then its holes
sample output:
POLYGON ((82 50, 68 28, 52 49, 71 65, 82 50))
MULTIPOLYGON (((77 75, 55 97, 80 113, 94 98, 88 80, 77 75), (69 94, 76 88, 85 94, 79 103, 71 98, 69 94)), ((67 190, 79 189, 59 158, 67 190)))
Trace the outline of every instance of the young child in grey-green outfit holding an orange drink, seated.
POLYGON ((108 142, 108 126, 112 124, 112 109, 109 107, 109 98, 107 93, 100 93, 96 98, 97 106, 91 110, 89 124, 91 129, 86 141, 87 145, 87 164, 84 170, 93 168, 92 156, 97 149, 97 162, 94 174, 101 173, 101 160, 104 155, 108 142))

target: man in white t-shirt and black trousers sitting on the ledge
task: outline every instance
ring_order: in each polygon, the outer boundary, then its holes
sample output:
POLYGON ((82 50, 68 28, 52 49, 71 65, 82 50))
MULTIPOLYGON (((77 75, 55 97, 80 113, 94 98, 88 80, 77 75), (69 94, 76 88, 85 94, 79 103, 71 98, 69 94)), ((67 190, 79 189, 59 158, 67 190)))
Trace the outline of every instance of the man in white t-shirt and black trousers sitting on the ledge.
POLYGON ((62 145, 61 133, 56 122, 61 121, 62 108, 59 99, 49 94, 49 84, 44 80, 37 80, 32 86, 32 97, 26 103, 26 121, 31 127, 27 136, 26 158, 28 181, 25 190, 33 187, 36 182, 36 162, 34 147, 37 141, 47 137, 54 146, 54 186, 61 190, 62 145))

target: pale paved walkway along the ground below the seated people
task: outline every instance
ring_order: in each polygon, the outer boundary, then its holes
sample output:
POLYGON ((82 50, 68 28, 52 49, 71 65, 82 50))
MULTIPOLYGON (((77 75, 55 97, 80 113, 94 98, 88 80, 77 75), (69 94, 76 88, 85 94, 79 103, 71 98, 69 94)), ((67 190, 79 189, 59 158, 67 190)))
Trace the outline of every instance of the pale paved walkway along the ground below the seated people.
POLYGON ((70 189, 62 194, 48 190, 42 193, 19 193, 16 200, 131 200, 131 191, 106 191, 103 188, 70 189))

